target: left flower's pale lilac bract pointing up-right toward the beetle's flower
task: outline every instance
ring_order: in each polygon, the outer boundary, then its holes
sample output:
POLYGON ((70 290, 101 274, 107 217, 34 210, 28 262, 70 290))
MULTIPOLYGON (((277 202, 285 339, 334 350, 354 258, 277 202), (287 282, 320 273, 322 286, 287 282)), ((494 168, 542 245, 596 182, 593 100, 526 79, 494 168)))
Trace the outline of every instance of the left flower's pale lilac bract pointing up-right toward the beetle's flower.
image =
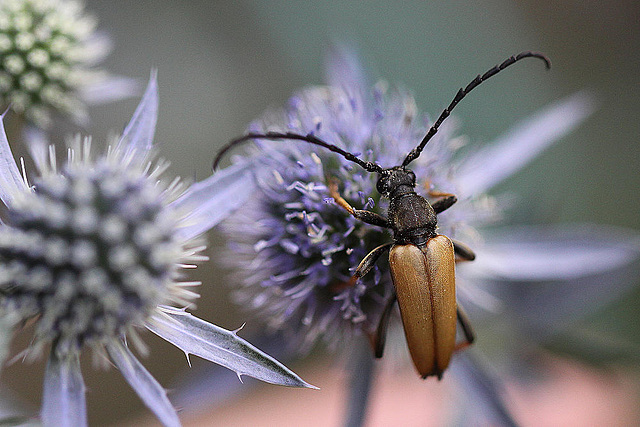
POLYGON ((196 237, 242 206, 256 188, 250 169, 249 162, 229 166, 191 185, 173 202, 173 207, 189 212, 182 221, 181 236, 196 237))

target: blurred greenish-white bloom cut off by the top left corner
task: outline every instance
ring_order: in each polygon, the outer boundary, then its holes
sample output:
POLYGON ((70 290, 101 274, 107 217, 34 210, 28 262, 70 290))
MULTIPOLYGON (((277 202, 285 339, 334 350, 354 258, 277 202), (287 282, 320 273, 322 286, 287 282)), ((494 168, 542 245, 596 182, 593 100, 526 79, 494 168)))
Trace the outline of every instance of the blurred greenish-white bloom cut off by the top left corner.
POLYGON ((110 51, 78 0, 0 2, 0 106, 47 127, 52 115, 87 121, 87 103, 130 96, 133 81, 95 65, 110 51))

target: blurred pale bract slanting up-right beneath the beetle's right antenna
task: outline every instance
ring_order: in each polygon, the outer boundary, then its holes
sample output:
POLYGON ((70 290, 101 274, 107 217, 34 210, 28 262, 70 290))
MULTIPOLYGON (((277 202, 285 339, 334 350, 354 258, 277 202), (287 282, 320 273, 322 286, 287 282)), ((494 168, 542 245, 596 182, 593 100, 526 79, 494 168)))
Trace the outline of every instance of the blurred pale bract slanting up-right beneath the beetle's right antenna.
POLYGON ((489 190, 572 131, 594 108, 592 96, 578 92, 516 125, 459 166, 456 172, 458 195, 489 190))

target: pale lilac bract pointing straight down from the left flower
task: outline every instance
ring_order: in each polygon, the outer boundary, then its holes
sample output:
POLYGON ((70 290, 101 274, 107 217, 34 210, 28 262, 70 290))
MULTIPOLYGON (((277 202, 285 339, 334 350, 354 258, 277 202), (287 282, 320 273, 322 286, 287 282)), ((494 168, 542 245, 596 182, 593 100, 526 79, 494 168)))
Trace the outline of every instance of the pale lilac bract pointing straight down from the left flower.
POLYGON ((50 353, 40 415, 45 427, 87 425, 85 386, 77 355, 59 359, 55 351, 50 353))

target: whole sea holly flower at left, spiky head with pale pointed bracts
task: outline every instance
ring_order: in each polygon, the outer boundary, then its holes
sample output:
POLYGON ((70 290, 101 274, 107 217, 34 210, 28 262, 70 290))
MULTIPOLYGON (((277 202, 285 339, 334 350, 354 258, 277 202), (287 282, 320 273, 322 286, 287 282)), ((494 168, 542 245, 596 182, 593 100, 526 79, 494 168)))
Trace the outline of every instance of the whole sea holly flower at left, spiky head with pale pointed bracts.
POLYGON ((35 177, 20 173, 0 133, 0 314, 14 324, 34 320, 27 358, 50 347, 42 421, 86 424, 79 357, 91 348, 111 361, 167 426, 179 425, 164 389, 133 355, 145 352, 138 330, 147 328, 239 376, 311 387, 270 356, 185 307, 198 282, 185 269, 206 259, 198 236, 217 223, 251 188, 243 167, 192 186, 164 178, 167 162, 152 146, 158 109, 152 76, 122 137, 94 156, 77 139, 58 164, 53 147, 34 144, 35 177), (28 181, 29 178, 29 181, 28 181), (234 198, 229 197, 234 194, 234 198))

